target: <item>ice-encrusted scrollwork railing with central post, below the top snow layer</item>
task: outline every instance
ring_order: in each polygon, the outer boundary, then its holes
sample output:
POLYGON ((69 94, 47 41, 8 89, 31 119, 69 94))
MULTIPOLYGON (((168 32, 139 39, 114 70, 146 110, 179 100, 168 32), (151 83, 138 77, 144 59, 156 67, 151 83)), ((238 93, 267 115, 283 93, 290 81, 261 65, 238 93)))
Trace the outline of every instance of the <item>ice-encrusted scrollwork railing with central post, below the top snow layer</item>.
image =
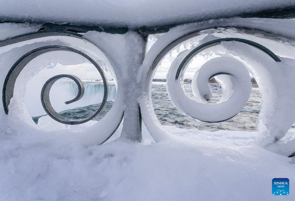
MULTIPOLYGON (((141 141, 142 121, 155 142, 169 139, 169 133, 161 126, 153 110, 152 78, 160 61, 169 51, 185 41, 192 40, 190 42, 193 44, 192 49, 179 53, 167 74, 167 91, 176 108, 191 118, 206 122, 228 120, 248 101, 251 91, 250 72, 260 86, 262 100, 265 103, 258 118, 259 138, 254 143, 290 156, 295 151, 294 147, 292 148, 295 141, 292 137, 287 139, 284 137, 295 121, 295 105, 290 103, 295 92, 286 94, 282 87, 295 75, 294 58, 289 56, 284 58, 284 54, 279 56, 273 52, 273 49, 257 41, 237 37, 221 38, 218 31, 222 32, 224 29, 235 29, 237 33, 246 31, 249 35, 270 41, 286 41, 291 47, 295 46, 295 32, 286 31, 286 27, 294 29, 294 23, 295 21, 283 19, 227 18, 156 29, 104 29, 52 23, 34 25, 37 31, 0 41, 0 47, 3 48, 0 49, 1 67, 3 67, 2 73, 5 74, 5 79, 4 76, 0 79, 3 80, 4 112, 9 118, 10 110, 16 110, 16 107, 22 104, 22 99, 14 100, 13 109, 9 108, 15 95, 17 77, 32 59, 50 51, 71 51, 85 57, 99 71, 104 84, 104 98, 100 108, 91 117, 81 120, 66 119, 51 106, 50 88, 60 78, 71 78, 79 89, 76 98, 67 102, 71 103, 83 96, 83 83, 76 76, 55 76, 45 83, 41 93, 42 105, 50 117, 64 124, 80 124, 91 120, 101 111, 108 95, 108 86, 104 75, 106 68, 102 68, 98 61, 106 60, 104 61, 107 63, 106 66, 116 77, 117 98, 104 118, 87 131, 80 132, 81 136, 97 135, 95 138, 85 137, 85 142, 104 143, 120 124, 122 124, 122 136, 141 141), (158 38, 146 53, 147 37, 154 33, 165 34, 158 38), (194 39, 199 36, 202 37, 194 39), (217 51, 216 55, 220 57, 209 60, 195 73, 192 79, 192 91, 198 102, 191 100, 183 90, 184 72, 196 54, 217 44, 229 52, 217 51), (102 54, 98 55, 95 51, 102 54), (232 65, 235 67, 231 67, 232 65), (206 101, 211 98, 211 92, 207 83, 210 78, 216 76, 223 89, 222 98, 218 103, 208 105, 206 101), (286 104, 289 104, 288 107, 284 107, 286 104)), ((22 108, 16 114, 23 112, 25 109, 22 108)), ((22 119, 15 114, 13 117, 17 120, 22 119)), ((5 117, 1 118, 4 120, 5 117)))

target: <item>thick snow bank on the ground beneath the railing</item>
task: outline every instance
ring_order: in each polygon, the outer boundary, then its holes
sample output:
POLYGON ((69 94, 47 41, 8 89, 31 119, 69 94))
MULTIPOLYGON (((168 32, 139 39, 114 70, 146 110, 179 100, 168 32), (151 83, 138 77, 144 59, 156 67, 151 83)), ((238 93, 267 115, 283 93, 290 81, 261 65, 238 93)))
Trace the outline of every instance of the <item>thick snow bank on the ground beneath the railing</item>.
POLYGON ((164 128, 163 143, 93 146, 0 133, 0 200, 277 200, 272 179, 295 182, 291 158, 247 145, 256 132, 164 128))

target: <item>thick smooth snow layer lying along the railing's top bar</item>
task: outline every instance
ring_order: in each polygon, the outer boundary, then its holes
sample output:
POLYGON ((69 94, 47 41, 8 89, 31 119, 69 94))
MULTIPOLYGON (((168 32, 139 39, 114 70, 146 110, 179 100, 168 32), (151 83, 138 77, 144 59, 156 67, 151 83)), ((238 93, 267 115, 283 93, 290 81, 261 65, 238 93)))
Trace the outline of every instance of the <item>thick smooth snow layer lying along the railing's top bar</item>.
POLYGON ((0 20, 112 27, 163 26, 295 7, 294 0, 0 0, 0 20))

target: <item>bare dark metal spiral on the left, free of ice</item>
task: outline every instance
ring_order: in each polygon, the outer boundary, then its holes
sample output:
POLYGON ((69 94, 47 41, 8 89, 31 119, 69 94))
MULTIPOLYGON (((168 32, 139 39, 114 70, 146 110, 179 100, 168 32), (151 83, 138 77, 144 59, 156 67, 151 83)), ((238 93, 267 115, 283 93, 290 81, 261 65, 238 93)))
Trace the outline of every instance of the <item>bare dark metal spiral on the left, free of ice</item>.
POLYGON ((19 76, 19 73, 32 59, 36 58, 37 56, 39 56, 43 53, 51 52, 51 51, 71 51, 71 52, 78 53, 78 54, 82 55, 83 57, 85 57, 86 59, 88 59, 96 67, 96 69, 99 71, 99 73, 101 75, 102 81, 104 83, 104 97, 103 97, 103 100, 102 100, 102 103, 101 103, 99 109, 90 117, 85 118, 85 119, 81 119, 81 120, 71 120, 71 119, 64 118, 64 117, 60 116, 53 109, 52 105, 50 104, 49 92, 50 92, 52 85, 60 78, 70 78, 73 81, 75 81, 75 83, 78 85, 78 95, 76 96, 76 98, 65 102, 65 104, 73 103, 73 102, 79 100, 80 98, 82 98, 83 93, 84 93, 84 86, 83 86, 82 81, 79 78, 77 78, 76 76, 58 75, 58 76, 54 76, 54 77, 50 78, 44 84, 44 86, 42 88, 41 102, 42 102, 44 110, 54 120, 56 120, 60 123, 63 123, 63 124, 75 125, 75 124, 85 123, 85 122, 93 119, 102 110, 102 108, 104 107, 106 100, 107 100, 108 83, 106 80, 106 76, 105 76, 103 70, 101 69, 101 67, 92 58, 87 56, 85 53, 78 51, 77 49, 74 49, 71 47, 59 46, 59 45, 50 45, 50 46, 43 46, 43 47, 36 48, 36 49, 31 50, 28 53, 24 54, 21 58, 19 58, 14 63, 14 65, 11 67, 11 69, 9 70, 9 72, 6 76, 5 81, 4 81, 4 85, 3 85, 2 100, 3 100, 3 107, 4 107, 5 113, 8 114, 8 111, 9 111, 8 105, 10 103, 12 96, 13 96, 15 81, 16 81, 17 77, 19 76))

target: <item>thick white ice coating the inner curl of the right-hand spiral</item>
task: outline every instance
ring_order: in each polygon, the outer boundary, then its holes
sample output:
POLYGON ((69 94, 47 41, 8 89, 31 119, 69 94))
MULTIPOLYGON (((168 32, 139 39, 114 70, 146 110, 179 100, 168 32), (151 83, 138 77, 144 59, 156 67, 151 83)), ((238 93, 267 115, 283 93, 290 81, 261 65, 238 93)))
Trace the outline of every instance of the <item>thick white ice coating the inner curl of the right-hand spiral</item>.
POLYGON ((198 103, 186 96, 180 79, 175 80, 178 66, 185 56, 182 54, 177 57, 167 74, 167 92, 176 108, 194 119, 206 122, 220 122, 239 113, 251 92, 250 76, 245 66, 229 57, 214 58, 205 63, 192 79, 192 91, 198 103), (224 92, 222 99, 216 104, 206 104, 211 98, 208 80, 220 73, 227 73, 230 77, 220 82, 224 92))

